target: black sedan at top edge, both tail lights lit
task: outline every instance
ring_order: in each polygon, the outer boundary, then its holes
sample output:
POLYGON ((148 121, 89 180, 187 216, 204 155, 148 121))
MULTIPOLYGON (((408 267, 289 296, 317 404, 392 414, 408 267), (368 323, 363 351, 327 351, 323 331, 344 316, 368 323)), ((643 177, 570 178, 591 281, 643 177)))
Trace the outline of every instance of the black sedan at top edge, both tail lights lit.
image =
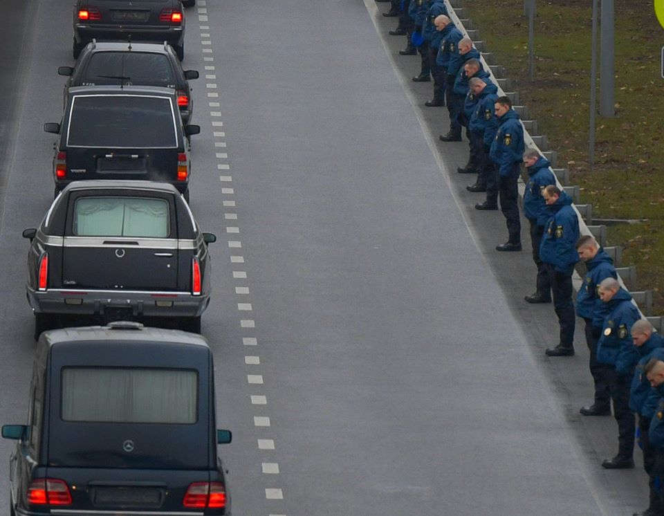
POLYGON ((180 0, 76 0, 73 56, 93 39, 167 41, 185 57, 185 15, 180 0))

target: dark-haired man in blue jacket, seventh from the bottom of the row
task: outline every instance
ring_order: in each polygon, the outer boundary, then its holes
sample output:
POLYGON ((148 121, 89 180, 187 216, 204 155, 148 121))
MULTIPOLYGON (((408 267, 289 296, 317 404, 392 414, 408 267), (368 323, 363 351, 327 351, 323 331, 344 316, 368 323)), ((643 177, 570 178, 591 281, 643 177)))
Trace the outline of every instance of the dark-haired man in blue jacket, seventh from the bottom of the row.
MULTIPOLYGON (((499 251, 521 250, 521 221, 517 199, 519 190, 519 164, 524 156, 524 127, 519 114, 512 109, 508 97, 499 97, 495 102, 495 115, 499 128, 491 144, 489 157, 495 163, 498 172, 498 196, 508 230, 508 241, 496 246, 499 251)), ((488 190, 487 190, 488 197, 488 190)), ((478 210, 490 210, 482 205, 475 205, 478 210)))

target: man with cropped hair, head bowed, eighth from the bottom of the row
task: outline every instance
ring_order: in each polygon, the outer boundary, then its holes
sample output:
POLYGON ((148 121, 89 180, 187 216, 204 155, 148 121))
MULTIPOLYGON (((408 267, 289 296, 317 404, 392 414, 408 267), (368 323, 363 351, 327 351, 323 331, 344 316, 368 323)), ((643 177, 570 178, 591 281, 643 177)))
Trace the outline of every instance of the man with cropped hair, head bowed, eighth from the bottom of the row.
MULTIPOLYGON (((492 142, 495 136, 495 129, 492 129, 492 126, 495 125, 493 123, 493 119, 495 119, 493 111, 496 99, 498 98, 498 86, 493 84, 488 77, 481 77, 480 75, 472 77, 468 81, 468 84, 477 99, 474 111, 468 122, 468 129, 470 130, 470 145, 473 149, 471 155, 473 152, 477 153, 477 171, 479 174, 474 185, 468 185, 465 189, 468 192, 486 192, 488 176, 493 177, 492 186, 494 189, 496 184, 495 167, 489 159, 489 148, 490 142, 492 142), (485 143, 487 132, 489 133, 489 145, 485 143)), ((493 203, 494 205, 496 204, 496 199, 493 200, 493 203)))

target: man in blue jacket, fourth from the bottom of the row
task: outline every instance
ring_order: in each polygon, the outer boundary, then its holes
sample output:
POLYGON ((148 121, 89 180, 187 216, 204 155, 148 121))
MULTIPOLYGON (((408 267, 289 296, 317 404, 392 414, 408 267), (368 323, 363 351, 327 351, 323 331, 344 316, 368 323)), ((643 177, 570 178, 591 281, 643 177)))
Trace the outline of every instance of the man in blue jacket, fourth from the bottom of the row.
POLYGON ((614 260, 600 248, 590 235, 578 239, 576 250, 586 264, 583 284, 576 295, 576 313, 585 322, 586 344, 590 351, 589 369, 595 385, 595 397, 592 405, 581 407, 584 416, 609 416, 611 414, 611 396, 607 378, 611 375, 611 366, 597 361, 597 341, 602 334, 604 306, 598 294, 598 286, 607 277, 618 278, 614 260))

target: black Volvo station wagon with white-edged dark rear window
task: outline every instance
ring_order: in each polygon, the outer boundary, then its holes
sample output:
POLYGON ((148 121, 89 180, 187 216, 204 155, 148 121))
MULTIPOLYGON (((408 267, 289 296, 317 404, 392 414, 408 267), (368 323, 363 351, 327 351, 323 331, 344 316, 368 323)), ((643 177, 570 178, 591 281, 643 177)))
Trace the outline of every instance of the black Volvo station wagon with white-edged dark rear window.
POLYGON ((143 179, 171 183, 189 199, 188 136, 176 91, 158 86, 70 88, 53 155, 55 194, 80 179, 143 179))

